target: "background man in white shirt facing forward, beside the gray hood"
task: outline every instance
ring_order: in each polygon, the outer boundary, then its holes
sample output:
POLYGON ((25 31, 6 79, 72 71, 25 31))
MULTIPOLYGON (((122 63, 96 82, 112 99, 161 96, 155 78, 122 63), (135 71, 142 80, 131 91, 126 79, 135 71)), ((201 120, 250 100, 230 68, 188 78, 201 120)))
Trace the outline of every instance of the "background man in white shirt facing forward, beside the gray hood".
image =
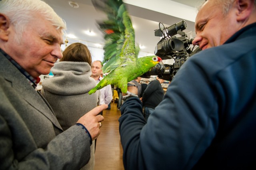
MULTIPOLYGON (((102 62, 97 60, 92 62, 92 75, 91 77, 96 80, 98 84, 103 77, 101 77, 102 73, 102 62)), ((100 89, 100 105, 106 104, 108 105, 113 99, 111 85, 107 85, 100 89)), ((102 115, 102 112, 100 113, 102 115)))

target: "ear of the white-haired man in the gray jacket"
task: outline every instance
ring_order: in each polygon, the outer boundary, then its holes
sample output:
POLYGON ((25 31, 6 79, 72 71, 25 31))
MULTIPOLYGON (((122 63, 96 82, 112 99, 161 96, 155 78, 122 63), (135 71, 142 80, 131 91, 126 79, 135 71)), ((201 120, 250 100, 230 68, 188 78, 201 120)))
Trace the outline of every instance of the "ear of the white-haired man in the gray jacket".
POLYGON ((10 20, 6 15, 0 13, 0 40, 8 41, 10 20))

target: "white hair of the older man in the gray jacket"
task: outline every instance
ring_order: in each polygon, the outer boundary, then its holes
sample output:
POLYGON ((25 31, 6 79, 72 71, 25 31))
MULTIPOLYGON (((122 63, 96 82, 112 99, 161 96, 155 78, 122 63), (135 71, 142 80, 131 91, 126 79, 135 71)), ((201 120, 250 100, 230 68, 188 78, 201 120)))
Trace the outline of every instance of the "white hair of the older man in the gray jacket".
POLYGON ((35 19, 34 13, 39 13, 52 23, 63 34, 66 23, 54 10, 41 0, 1 0, 0 13, 6 15, 10 24, 14 25, 15 31, 20 37, 26 30, 26 26, 35 19))

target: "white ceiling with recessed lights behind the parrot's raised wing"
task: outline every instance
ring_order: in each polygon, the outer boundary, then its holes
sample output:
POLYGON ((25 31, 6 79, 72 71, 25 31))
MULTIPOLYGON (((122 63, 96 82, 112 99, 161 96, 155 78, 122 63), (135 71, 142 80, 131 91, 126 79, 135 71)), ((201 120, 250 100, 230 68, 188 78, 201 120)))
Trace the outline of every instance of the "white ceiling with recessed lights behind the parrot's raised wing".
MULTIPOLYGON (((69 0, 44 1, 65 20, 67 35, 76 36, 76 38, 68 37, 69 43, 82 42, 88 46, 99 43, 103 47, 103 34, 98 30, 96 20, 102 20, 105 14, 96 11, 91 0, 73 0, 77 2, 79 8, 72 8, 68 3, 69 0), (86 35, 84 32, 88 30, 96 35, 86 35)), ((187 33, 188 38, 195 36, 194 19, 197 12, 195 7, 202 0, 124 0, 124 2, 134 25, 135 41, 144 47, 141 51, 154 53, 154 48, 160 41, 159 37, 154 36, 154 30, 158 29, 159 22, 168 27, 184 19, 187 24, 184 32, 187 33)))

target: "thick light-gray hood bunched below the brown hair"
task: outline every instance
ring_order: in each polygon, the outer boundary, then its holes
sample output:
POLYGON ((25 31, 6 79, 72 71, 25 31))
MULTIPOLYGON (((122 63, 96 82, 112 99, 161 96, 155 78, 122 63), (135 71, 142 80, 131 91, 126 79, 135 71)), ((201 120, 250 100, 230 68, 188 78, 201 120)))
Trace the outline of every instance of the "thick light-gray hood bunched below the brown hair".
POLYGON ((88 93, 96 86, 90 77, 91 67, 86 62, 60 61, 51 69, 54 77, 45 79, 42 87, 58 95, 78 95, 88 93))

